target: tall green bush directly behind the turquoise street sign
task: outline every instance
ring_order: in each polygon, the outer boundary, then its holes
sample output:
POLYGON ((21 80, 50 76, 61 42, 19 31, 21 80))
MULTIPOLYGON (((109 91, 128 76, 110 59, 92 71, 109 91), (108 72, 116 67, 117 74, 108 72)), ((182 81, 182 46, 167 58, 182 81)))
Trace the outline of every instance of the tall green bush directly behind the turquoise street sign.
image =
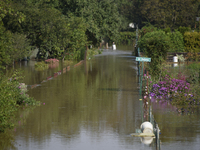
POLYGON ((169 36, 161 30, 148 32, 138 41, 141 51, 152 60, 149 71, 155 78, 160 76, 162 63, 165 61, 168 49, 171 47, 170 42, 169 36))

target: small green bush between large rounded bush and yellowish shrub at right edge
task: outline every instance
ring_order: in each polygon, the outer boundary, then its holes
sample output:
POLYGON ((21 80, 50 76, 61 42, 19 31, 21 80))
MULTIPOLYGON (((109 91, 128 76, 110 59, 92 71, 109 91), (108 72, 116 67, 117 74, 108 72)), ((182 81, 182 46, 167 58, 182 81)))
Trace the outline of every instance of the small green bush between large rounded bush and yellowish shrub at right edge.
POLYGON ((183 36, 179 31, 167 33, 171 38, 171 44, 168 52, 184 52, 183 36))

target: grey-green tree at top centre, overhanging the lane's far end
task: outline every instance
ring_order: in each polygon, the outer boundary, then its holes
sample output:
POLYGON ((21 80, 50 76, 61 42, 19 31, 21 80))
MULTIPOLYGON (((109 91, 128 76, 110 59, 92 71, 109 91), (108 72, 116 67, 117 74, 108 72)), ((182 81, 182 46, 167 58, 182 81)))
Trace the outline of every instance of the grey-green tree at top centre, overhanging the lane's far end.
POLYGON ((96 45, 103 38, 116 39, 121 29, 121 15, 113 0, 62 0, 64 15, 84 18, 89 41, 96 45))

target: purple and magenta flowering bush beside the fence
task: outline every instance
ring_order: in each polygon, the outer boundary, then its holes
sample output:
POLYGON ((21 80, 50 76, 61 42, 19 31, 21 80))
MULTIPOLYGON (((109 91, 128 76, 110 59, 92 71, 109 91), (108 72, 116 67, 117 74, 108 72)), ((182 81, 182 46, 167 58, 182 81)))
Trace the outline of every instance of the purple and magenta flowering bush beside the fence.
POLYGON ((153 84, 150 96, 153 99, 169 100, 171 104, 190 108, 193 105, 199 105, 198 95, 192 94, 194 90, 186 77, 181 73, 178 79, 166 75, 156 84, 153 84))

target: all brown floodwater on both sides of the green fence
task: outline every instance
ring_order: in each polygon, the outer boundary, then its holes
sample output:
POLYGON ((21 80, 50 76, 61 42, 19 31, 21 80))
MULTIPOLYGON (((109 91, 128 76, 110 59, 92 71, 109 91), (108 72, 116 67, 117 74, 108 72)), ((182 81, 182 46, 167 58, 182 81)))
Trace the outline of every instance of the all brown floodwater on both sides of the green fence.
MULTIPOLYGON (((147 145, 130 136, 143 117, 131 50, 104 50, 70 70, 63 70, 62 64, 47 71, 36 71, 34 61, 18 64, 29 85, 28 94, 42 104, 18 112, 17 126, 0 134, 0 149, 154 150, 155 140, 147 145)), ((179 115, 174 107, 153 104, 161 149, 198 150, 199 114, 179 115)))

